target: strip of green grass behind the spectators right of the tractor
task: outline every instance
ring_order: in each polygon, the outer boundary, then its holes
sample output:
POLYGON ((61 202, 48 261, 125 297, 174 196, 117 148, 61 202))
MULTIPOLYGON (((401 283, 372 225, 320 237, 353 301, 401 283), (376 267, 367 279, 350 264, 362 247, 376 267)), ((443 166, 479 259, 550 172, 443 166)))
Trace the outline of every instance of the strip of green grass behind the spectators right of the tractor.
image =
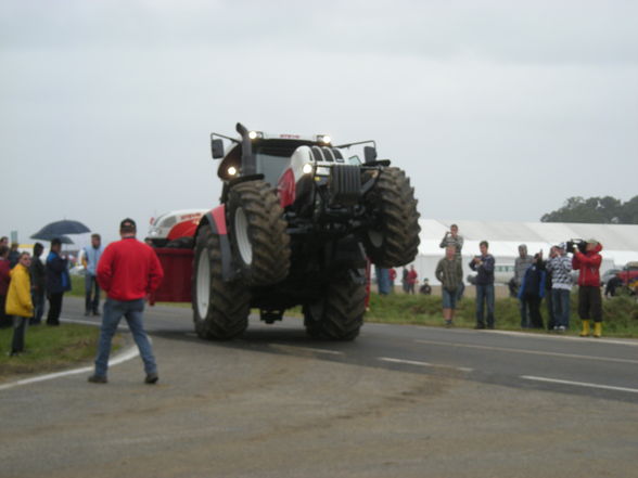
MULTIPOLYGON (((570 334, 576 335, 580 320, 577 315, 577 294, 572 294, 570 334)), ((547 306, 541 303, 541 314, 547 325, 547 306)), ((497 299, 495 305, 496 327, 506 331, 521 328, 519 301, 512 298, 497 299)), ((443 326, 441 296, 392 294, 370 297, 370 311, 367 322, 390 324, 414 324, 443 326)), ((603 299, 603 336, 638 337, 638 302, 631 297, 603 299)), ((456 326, 473 327, 475 325, 475 301, 463 298, 458 303, 456 326)), ((540 333, 545 333, 540 331, 540 333)))

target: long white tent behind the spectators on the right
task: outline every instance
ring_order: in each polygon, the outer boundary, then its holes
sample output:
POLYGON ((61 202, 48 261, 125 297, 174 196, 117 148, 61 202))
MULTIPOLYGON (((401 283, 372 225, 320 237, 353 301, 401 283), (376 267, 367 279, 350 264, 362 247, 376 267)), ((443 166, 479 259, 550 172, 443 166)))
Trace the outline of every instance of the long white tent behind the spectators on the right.
MULTIPOLYGON (((623 268, 629 261, 638 261, 638 225, 634 224, 580 224, 564 222, 485 222, 462 220, 419 221, 421 245, 414 259, 419 282, 428 277, 430 284, 437 285, 434 271, 445 250, 439 247, 445 233, 451 224, 458 224, 463 244, 463 279, 467 283, 470 260, 478 255, 481 241, 489 243, 489 253, 497 264, 513 264, 519 256, 519 245, 527 245, 527 253, 534 255, 543 250, 547 257, 551 246, 571 238, 596 238, 602 246, 601 272, 612 268, 623 268)), ((397 284, 400 284, 401 268, 397 269, 397 284)))

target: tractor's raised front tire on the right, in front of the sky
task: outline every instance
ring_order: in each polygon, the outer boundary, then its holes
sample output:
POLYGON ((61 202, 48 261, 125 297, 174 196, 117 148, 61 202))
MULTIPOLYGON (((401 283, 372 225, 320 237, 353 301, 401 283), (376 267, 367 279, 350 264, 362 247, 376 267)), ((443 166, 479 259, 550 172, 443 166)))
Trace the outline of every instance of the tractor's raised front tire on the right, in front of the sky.
POLYGON ((398 168, 384 168, 368 194, 375 223, 363 234, 366 253, 382 268, 406 266, 419 251, 419 211, 414 189, 398 168))

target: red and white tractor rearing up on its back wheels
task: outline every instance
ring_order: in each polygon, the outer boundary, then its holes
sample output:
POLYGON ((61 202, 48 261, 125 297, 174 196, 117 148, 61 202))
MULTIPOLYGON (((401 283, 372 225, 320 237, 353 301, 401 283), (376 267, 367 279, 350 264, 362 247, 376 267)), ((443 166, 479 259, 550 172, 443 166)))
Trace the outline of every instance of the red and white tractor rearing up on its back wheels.
POLYGON ((335 146, 327 135, 270 135, 241 124, 237 131, 239 139, 210 134, 221 204, 192 228, 192 248, 156 249, 168 274, 155 300, 191 300, 195 331, 207 339, 242 334, 251 308, 273 323, 295 306, 310 336, 354 339, 367 261, 391 268, 417 256, 409 179, 377 159, 373 141, 335 146), (348 156, 354 146, 363 158, 348 156))

